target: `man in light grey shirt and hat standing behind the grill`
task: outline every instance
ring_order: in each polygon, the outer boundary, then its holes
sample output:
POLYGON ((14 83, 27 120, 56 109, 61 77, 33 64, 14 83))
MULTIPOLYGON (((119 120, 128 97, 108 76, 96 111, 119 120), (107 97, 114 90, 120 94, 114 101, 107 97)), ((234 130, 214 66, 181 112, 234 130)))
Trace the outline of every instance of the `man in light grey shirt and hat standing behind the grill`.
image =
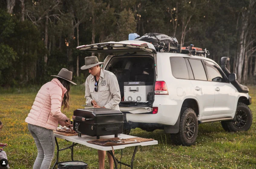
MULTIPOLYGON (((118 104, 121 101, 121 94, 116 76, 107 70, 102 69, 96 56, 86 57, 82 70, 89 69, 90 75, 85 81, 86 103, 94 108, 107 108, 120 110, 118 104)), ((114 153, 114 152, 113 152, 114 153)), ((104 169, 106 151, 98 150, 99 169, 104 169)), ((109 168, 113 169, 113 158, 108 153, 109 168)))

